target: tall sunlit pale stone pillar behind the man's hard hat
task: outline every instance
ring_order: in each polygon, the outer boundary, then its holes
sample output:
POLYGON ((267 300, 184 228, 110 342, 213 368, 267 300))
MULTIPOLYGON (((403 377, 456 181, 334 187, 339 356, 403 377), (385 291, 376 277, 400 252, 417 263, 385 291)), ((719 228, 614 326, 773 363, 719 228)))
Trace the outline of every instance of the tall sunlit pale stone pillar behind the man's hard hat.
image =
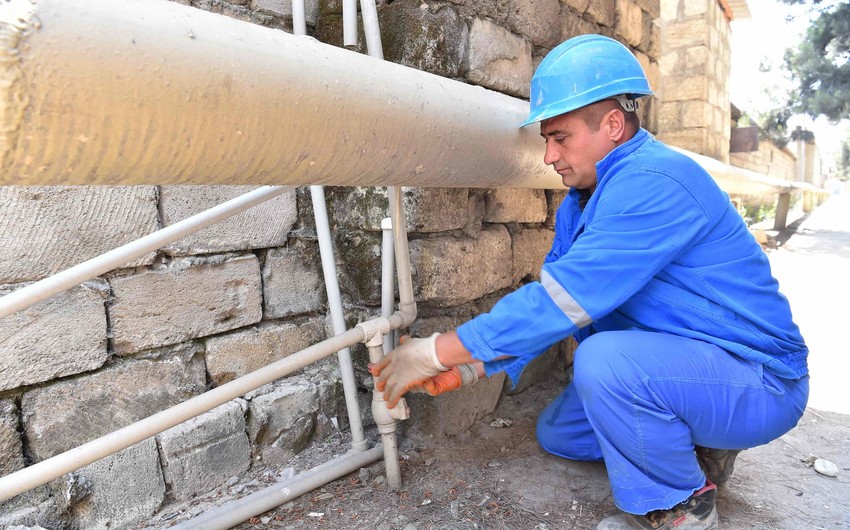
POLYGON ((728 163, 731 50, 723 4, 661 1, 658 138, 728 163))

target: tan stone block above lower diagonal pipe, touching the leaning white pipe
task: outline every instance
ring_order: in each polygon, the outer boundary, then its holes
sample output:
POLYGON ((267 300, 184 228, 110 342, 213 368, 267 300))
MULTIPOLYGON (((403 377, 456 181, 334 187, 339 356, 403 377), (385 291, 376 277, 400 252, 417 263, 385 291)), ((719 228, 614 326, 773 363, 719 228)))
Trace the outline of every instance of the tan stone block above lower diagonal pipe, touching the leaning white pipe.
POLYGON ((325 321, 269 322, 207 339, 207 372, 216 385, 253 372, 327 338, 325 321))

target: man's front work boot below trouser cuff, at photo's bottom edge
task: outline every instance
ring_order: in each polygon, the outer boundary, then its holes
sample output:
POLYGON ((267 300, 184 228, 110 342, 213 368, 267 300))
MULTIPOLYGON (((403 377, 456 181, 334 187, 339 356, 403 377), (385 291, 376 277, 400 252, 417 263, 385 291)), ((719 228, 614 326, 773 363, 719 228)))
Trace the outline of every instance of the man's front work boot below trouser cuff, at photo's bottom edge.
POLYGON ((669 510, 655 510, 646 515, 621 513, 606 517, 596 526, 596 530, 716 530, 716 496, 717 487, 707 482, 701 490, 669 510))

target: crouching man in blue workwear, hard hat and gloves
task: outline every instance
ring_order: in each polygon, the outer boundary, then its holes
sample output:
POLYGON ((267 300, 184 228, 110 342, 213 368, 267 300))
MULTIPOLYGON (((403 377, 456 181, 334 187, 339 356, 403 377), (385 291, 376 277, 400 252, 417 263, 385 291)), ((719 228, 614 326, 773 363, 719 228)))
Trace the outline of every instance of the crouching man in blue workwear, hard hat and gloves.
POLYGON ((540 124, 543 160, 569 187, 539 281, 371 369, 392 407, 411 388, 438 394, 499 371, 516 384, 572 335, 572 379, 537 438, 559 457, 604 461, 625 513, 597 528, 717 528, 712 478, 797 424, 808 350, 729 197, 641 128, 638 100, 652 93, 613 39, 554 48, 522 124, 540 124))

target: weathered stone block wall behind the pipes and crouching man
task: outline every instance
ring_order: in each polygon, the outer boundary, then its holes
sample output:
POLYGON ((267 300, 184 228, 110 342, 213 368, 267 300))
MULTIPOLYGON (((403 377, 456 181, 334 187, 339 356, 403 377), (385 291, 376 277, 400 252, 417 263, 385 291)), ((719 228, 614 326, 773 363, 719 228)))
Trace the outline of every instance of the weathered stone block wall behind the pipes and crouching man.
MULTIPOLYGON (((183 1, 288 31, 284 0, 183 1)), ((560 41, 599 32, 658 85, 653 0, 395 0, 379 6, 387 59, 526 97, 560 41)), ((341 4, 307 2, 309 32, 341 41, 341 4)), ((352 53, 364 51, 364 39, 352 53)), ((645 125, 657 128, 648 98, 645 125)), ((422 141, 427 141, 423 138, 422 141)), ((542 156, 542 148, 541 148, 542 156)), ((0 188, 0 289, 12 292, 250 190, 244 186, 0 188)), ((348 323, 380 305, 383 189, 326 190, 348 323)), ((536 278, 565 190, 406 189, 420 318, 451 329, 536 278)), ((0 320, 0 474, 42 461, 326 338, 305 189, 239 214, 0 320)), ((566 344, 526 371, 565 369, 566 344)), ((353 348, 367 390, 366 354, 353 348)), ((414 399, 416 432, 456 434, 495 406, 502 378, 414 399), (461 406, 460 400, 471 400, 461 406), (446 421, 449 418, 450 421, 446 421), (438 421, 439 420, 439 421, 438 421), (437 431, 437 426, 442 431, 437 431)), ((361 410, 368 420, 368 394, 361 410)), ((124 528, 247 471, 283 466, 347 426, 333 360, 267 385, 48 486, 0 504, 0 526, 124 528)), ((346 435, 347 436, 347 435, 346 435)))

